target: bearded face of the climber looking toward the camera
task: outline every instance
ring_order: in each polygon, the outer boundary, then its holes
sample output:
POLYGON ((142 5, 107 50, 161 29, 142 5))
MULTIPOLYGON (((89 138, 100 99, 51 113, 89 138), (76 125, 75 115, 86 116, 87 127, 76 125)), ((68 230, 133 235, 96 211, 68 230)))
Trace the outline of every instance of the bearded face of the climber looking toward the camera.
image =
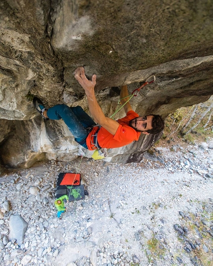
POLYGON ((129 126, 136 131, 149 134, 146 131, 152 129, 153 116, 139 116, 129 121, 129 126))

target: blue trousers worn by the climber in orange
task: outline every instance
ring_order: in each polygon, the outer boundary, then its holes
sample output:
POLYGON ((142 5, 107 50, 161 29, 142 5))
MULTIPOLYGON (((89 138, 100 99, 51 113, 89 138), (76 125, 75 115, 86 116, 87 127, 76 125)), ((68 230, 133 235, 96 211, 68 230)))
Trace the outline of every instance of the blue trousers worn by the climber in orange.
POLYGON ((75 137, 75 141, 88 149, 86 144, 86 138, 89 134, 88 128, 96 125, 96 123, 84 112, 81 106, 69 107, 65 104, 57 104, 48 109, 47 115, 52 120, 62 119, 75 137))

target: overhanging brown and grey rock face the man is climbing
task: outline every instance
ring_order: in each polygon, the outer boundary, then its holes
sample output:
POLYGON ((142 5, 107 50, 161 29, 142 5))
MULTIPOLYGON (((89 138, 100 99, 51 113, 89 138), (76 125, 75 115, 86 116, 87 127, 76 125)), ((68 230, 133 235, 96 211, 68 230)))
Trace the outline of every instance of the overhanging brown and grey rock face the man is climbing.
MULTIPOLYGON (((107 116, 119 96, 138 88, 131 105, 140 115, 166 117, 213 94, 213 2, 209 0, 2 0, 0 2, 0 172, 38 160, 69 161, 80 149, 62 121, 43 121, 33 95, 47 107, 81 105, 74 79, 83 65, 97 75, 97 98, 107 116)), ((117 114, 115 119, 124 116, 117 114)), ((107 160, 130 162, 159 136, 109 151, 107 160)))

